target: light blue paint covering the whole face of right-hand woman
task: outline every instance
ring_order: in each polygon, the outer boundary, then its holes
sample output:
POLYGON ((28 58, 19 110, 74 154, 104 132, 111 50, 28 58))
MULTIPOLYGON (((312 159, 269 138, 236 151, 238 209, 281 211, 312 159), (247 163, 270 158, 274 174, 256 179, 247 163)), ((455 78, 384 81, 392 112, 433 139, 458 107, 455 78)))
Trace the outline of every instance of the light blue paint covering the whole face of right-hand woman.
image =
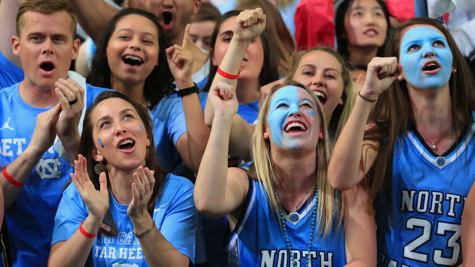
POLYGON ((402 68, 409 83, 419 87, 441 87, 447 84, 452 73, 452 51, 447 39, 437 30, 416 27, 402 38, 399 51, 402 68), (435 56, 424 57, 434 53, 435 56), (436 74, 424 74, 422 69, 428 60, 437 60, 440 70, 436 74))

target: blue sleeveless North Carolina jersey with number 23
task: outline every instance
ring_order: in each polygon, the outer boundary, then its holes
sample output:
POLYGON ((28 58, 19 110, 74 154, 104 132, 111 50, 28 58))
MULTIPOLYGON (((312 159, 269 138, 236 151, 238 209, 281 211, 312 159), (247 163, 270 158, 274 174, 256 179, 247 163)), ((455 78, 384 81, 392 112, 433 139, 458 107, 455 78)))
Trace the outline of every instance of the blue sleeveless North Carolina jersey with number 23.
POLYGON ((462 210, 475 179, 474 129, 470 124, 458 145, 442 156, 416 130, 399 137, 392 172, 394 224, 388 223, 383 200, 377 218, 378 267, 462 263, 462 210))

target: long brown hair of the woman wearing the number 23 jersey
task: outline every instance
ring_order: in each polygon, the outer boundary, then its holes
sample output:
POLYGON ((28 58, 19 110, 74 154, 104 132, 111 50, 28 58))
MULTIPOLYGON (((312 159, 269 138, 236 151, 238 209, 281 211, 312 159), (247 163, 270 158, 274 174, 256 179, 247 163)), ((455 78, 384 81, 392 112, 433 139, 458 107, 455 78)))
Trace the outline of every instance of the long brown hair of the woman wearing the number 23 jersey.
MULTIPOLYGON (((470 75, 467 63, 460 53, 454 38, 448 30, 434 19, 414 18, 402 23, 391 37, 386 49, 386 57, 398 57, 402 31, 409 26, 425 24, 433 26, 442 32, 452 51, 453 66, 457 72, 450 76, 449 91, 451 101, 451 116, 454 125, 454 132, 459 133, 462 129, 469 126, 472 121, 472 111, 475 110, 475 84, 470 75)), ((375 149, 378 152, 371 170, 363 179, 363 186, 369 189, 370 202, 372 205, 377 195, 385 195, 387 200, 388 214, 392 214, 392 158, 395 153, 395 143, 397 139, 403 136, 409 128, 415 127, 412 104, 409 99, 406 82, 399 82, 397 79, 391 86, 383 92, 376 102, 370 120, 374 126, 368 129, 363 137, 365 141, 380 143, 378 146, 366 143, 368 148, 375 149)), ((458 145, 458 143, 457 143, 458 145)), ((360 168, 364 169, 364 160, 361 159, 360 168)), ((381 207, 382 208, 382 207, 381 207)), ((392 219, 392 216, 390 216, 392 219)))

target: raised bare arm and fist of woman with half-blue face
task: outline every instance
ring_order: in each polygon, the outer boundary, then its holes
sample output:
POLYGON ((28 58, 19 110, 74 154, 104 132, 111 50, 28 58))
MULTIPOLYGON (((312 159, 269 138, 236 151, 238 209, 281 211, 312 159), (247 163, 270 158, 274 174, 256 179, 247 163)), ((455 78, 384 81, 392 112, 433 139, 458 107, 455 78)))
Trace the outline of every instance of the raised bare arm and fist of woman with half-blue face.
POLYGON ((209 95, 215 111, 214 127, 199 166, 194 199, 201 213, 222 217, 241 206, 249 182, 246 172, 228 168, 229 132, 238 107, 233 88, 220 82, 209 90, 209 95))

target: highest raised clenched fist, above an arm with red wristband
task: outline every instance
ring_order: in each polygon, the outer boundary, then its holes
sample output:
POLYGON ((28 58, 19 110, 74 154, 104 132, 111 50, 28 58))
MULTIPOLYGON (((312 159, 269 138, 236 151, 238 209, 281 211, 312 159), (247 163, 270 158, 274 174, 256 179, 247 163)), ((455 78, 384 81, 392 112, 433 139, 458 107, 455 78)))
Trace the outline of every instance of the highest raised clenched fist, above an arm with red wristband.
POLYGON ((266 29, 266 15, 261 8, 244 10, 236 18, 234 36, 239 42, 250 43, 266 29))

